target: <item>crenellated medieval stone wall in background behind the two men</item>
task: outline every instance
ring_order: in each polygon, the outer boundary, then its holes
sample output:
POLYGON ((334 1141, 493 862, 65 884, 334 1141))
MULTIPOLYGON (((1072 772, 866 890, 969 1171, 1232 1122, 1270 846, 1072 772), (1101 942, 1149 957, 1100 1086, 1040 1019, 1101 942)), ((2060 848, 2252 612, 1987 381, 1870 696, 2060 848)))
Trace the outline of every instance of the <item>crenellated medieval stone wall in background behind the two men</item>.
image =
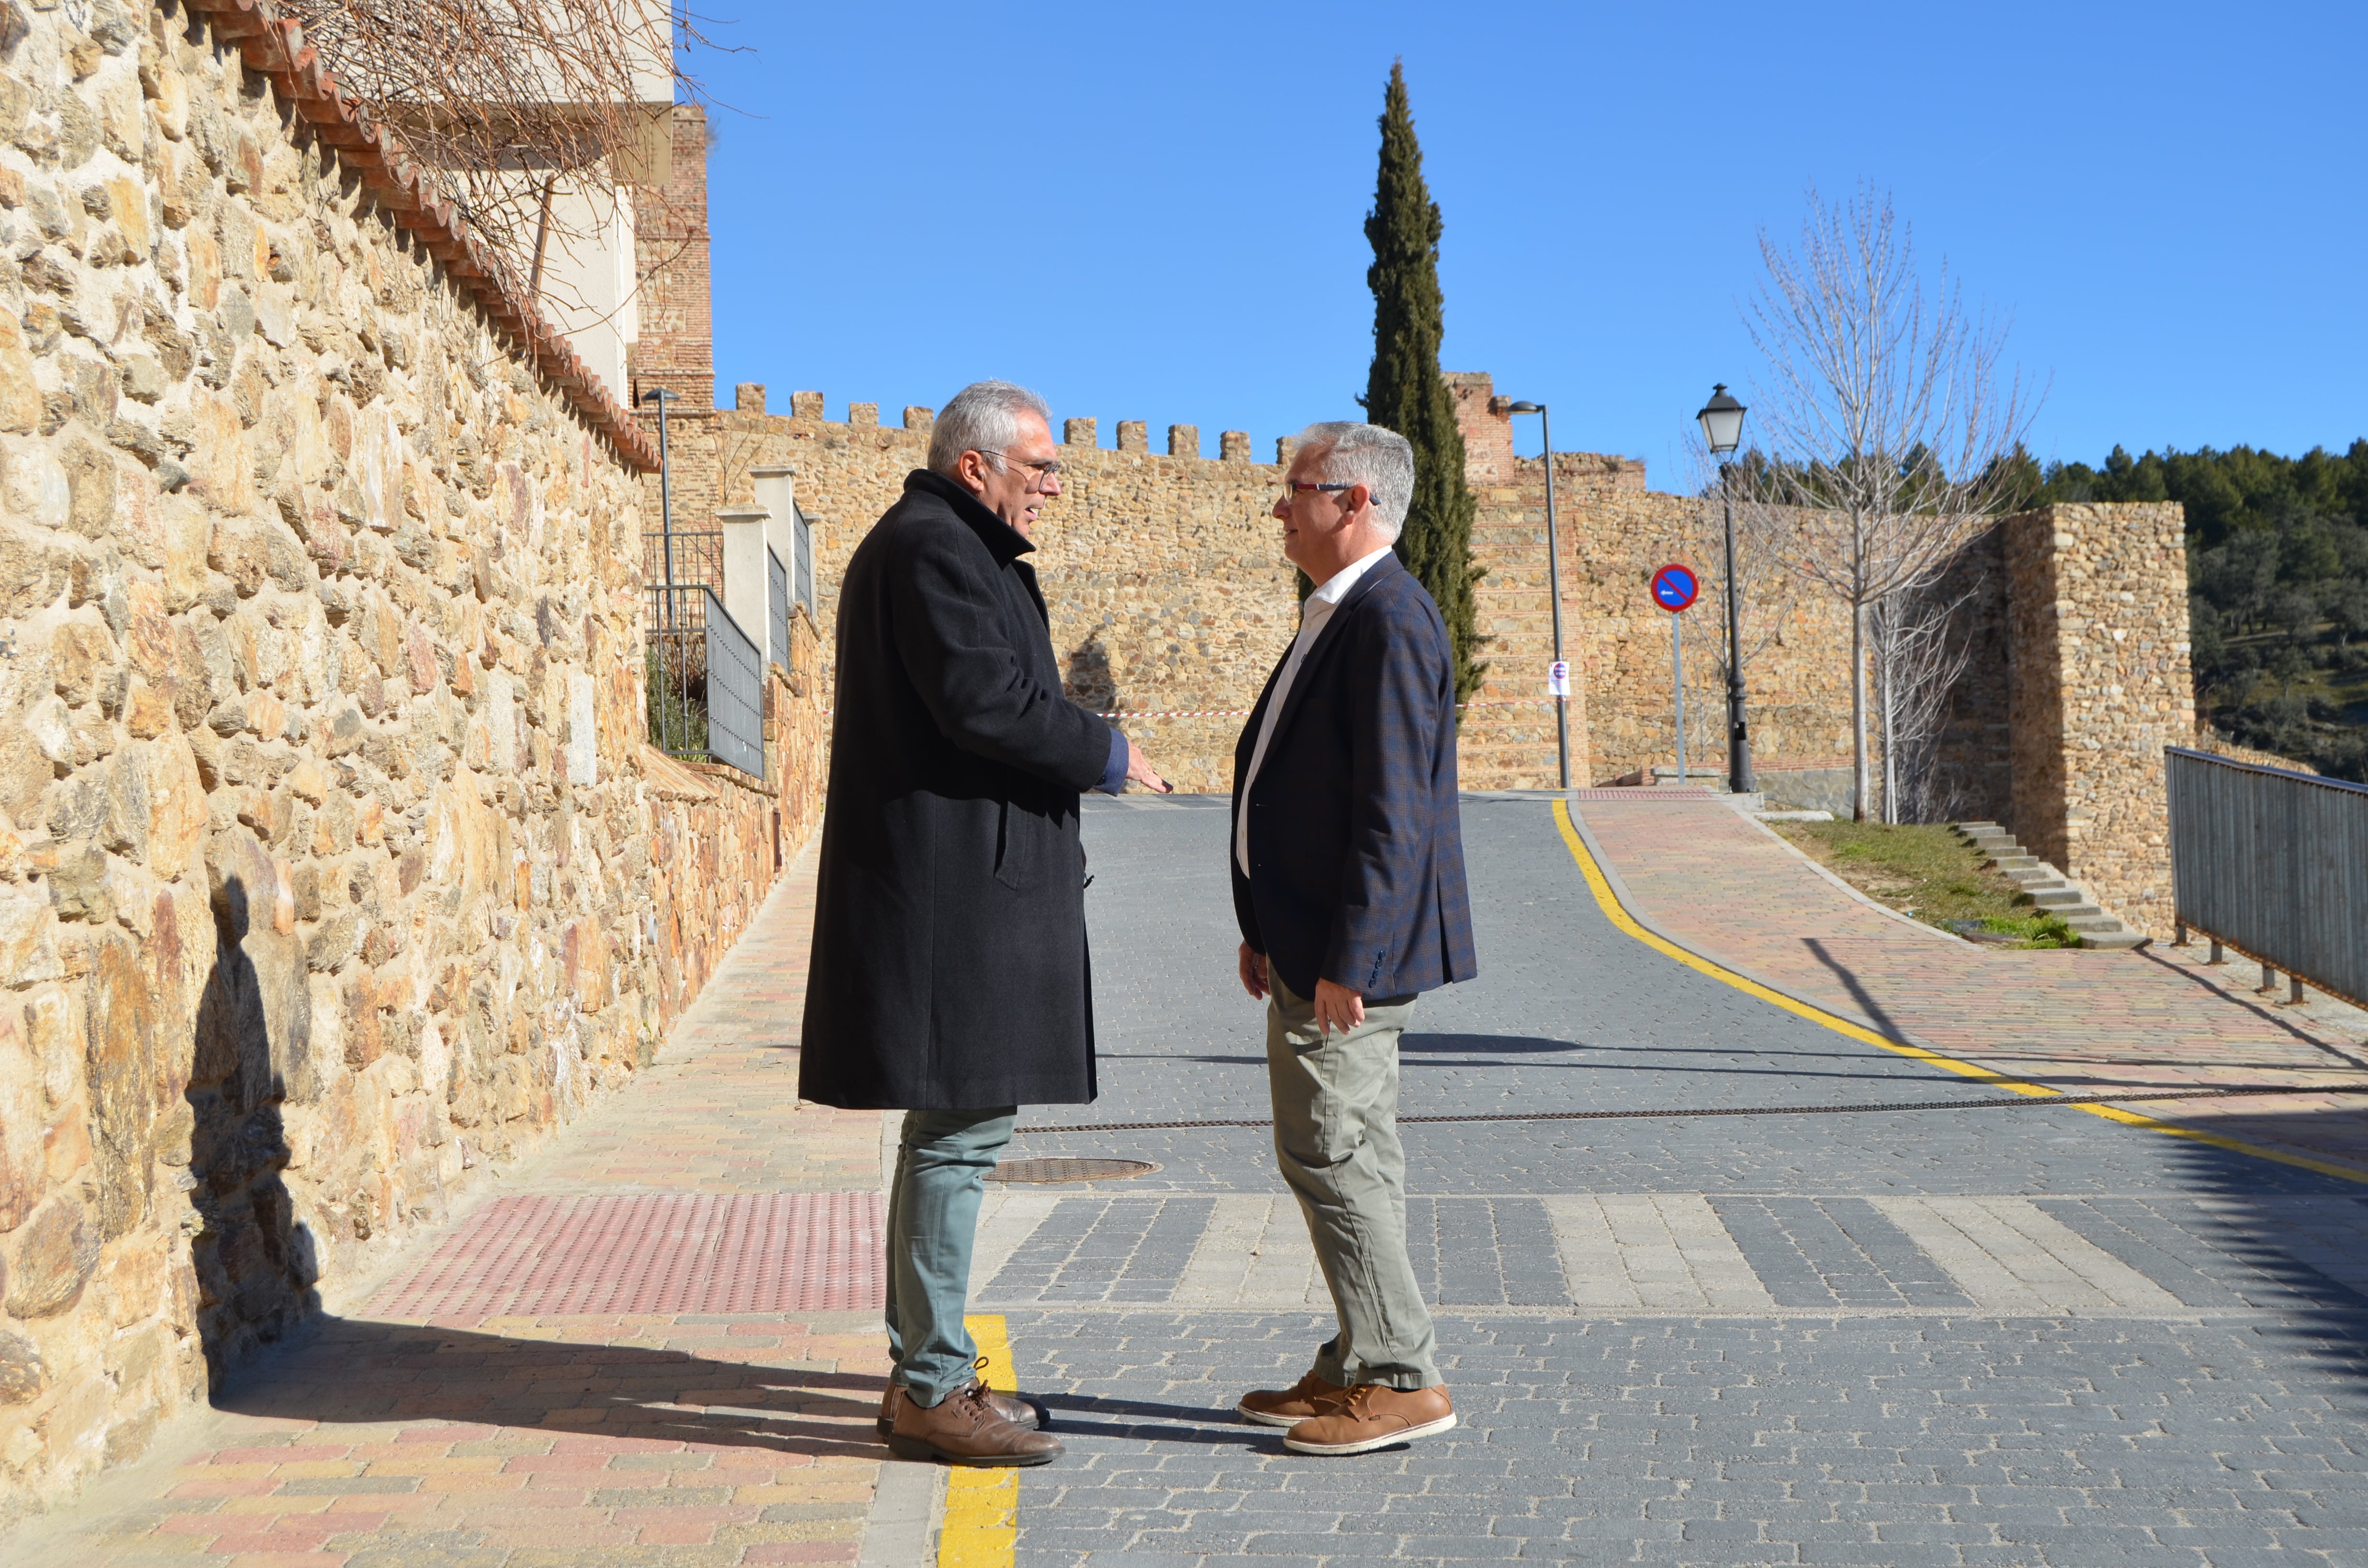
MULTIPOLYGON (((1487 682, 1466 711, 1459 744, 1468 789, 1534 789, 1556 777, 1553 703, 1546 701, 1551 606, 1546 597, 1544 464, 1516 460, 1511 419, 1487 377, 1456 377, 1468 474, 1480 497, 1473 552, 1487 682)), ((713 526, 713 509, 753 500, 748 471, 798 469, 798 507, 815 519, 815 597, 824 628, 838 578, 864 531, 924 464, 931 410, 905 426, 879 405, 822 417, 819 393, 791 393, 791 415, 765 415, 765 388, 739 410, 675 426, 675 523, 713 526), (708 443, 708 445, 701 445, 708 443), (691 521, 699 519, 699 521, 691 521)), ((1054 616, 1054 649, 1070 694, 1130 718, 1179 789, 1231 789, 1231 751, 1246 711, 1298 625, 1295 573, 1269 516, 1281 469, 1250 462, 1248 436, 1224 431, 1217 460, 1198 457, 1193 426, 1151 452, 1139 422, 1120 422, 1118 448, 1096 419, 1066 419, 1063 495, 1044 509, 1035 566, 1054 616), (1186 718, 1167 718, 1170 713, 1186 718), (1203 715, 1205 713, 1205 715, 1203 715)), ((1643 488, 1643 464, 1594 452, 1556 457, 1563 547, 1572 779, 1579 784, 1674 763, 1669 618, 1646 583, 1684 559, 1703 576, 1686 613, 1688 763, 1724 758, 1724 618, 1717 516, 1695 497, 1643 488)), ((1788 592, 1774 573, 1745 585, 1745 663, 1757 756, 1783 767, 1849 753, 1849 621, 1823 599, 1788 592)))

